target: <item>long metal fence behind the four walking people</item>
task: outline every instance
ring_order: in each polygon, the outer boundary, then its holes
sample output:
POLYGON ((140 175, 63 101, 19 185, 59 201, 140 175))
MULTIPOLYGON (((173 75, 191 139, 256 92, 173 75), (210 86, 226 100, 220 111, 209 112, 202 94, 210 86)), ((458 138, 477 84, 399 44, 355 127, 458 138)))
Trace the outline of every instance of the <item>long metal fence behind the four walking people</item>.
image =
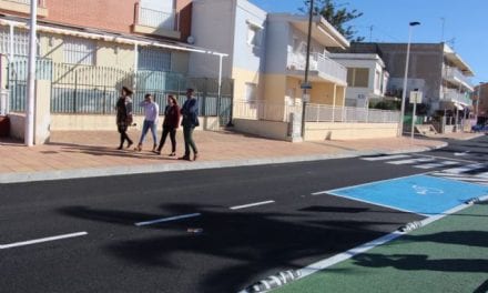
MULTIPOLYGON (((134 112, 141 114, 138 104, 151 93, 160 104, 166 105, 167 94, 182 104, 187 88, 195 89, 200 114, 220 117, 226 124, 232 114, 233 80, 224 79, 218 95, 218 81, 209 78, 189 78, 164 71, 131 71, 109 67, 53 63, 37 61, 37 79, 51 81, 51 112, 73 114, 114 114, 115 103, 123 85, 134 84, 134 112)), ((27 100, 27 60, 9 64, 10 110, 24 111, 27 100)))

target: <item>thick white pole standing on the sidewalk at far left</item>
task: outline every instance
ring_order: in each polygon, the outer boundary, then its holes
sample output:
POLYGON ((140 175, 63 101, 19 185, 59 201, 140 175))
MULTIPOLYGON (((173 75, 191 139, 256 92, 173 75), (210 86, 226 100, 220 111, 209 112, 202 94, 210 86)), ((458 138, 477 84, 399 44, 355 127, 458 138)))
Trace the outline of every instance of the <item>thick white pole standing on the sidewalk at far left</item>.
POLYGON ((35 95, 35 31, 37 31, 37 14, 38 0, 31 0, 30 9, 30 38, 29 38, 29 73, 28 73, 28 100, 26 107, 26 131, 24 143, 27 146, 33 145, 34 135, 34 95, 35 95))

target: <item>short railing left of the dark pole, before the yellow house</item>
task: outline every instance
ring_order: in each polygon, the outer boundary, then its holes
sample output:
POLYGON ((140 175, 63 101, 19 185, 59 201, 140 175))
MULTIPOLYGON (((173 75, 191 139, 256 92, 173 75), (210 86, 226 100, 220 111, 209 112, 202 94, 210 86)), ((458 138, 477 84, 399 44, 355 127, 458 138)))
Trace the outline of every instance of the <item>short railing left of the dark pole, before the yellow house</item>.
POLYGON ((271 103, 266 101, 235 101, 234 118, 289 122, 291 113, 302 113, 301 104, 271 103))

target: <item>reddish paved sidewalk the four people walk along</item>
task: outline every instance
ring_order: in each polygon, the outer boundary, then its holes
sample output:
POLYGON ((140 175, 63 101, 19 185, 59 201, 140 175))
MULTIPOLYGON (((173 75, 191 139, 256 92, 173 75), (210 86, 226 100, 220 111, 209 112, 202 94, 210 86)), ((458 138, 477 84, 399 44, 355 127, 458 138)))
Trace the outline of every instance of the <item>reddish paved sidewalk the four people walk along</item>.
MULTIPOLYGON (((135 130, 130 132, 134 141, 139 134, 135 130)), ((176 137, 177 154, 181 155, 183 135, 179 132, 176 137)), ((24 146, 22 142, 1 139, 0 183, 414 152, 446 144, 431 139, 416 139, 411 142, 408 138, 289 143, 234 132, 209 131, 195 132, 195 141, 200 148, 197 162, 167 156, 169 141, 162 155, 151 153, 150 135, 142 152, 132 149, 119 151, 115 149, 119 143, 116 131, 53 132, 49 144, 32 148, 24 146)))

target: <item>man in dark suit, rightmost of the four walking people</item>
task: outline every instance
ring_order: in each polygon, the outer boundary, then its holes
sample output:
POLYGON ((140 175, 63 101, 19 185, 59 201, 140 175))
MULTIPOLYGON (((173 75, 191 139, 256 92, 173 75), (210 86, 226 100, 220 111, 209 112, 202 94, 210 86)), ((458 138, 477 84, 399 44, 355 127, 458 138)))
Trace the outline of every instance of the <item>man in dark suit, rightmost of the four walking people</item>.
POLYGON ((199 150, 196 149, 196 144, 193 141, 193 130, 200 125, 199 121, 199 103, 196 99, 193 97, 193 89, 186 90, 186 101, 183 103, 181 108, 181 114, 183 120, 181 122, 183 127, 183 139, 185 142, 185 154, 179 160, 187 160, 190 159, 190 149, 193 151, 193 160, 196 161, 199 158, 199 150))

